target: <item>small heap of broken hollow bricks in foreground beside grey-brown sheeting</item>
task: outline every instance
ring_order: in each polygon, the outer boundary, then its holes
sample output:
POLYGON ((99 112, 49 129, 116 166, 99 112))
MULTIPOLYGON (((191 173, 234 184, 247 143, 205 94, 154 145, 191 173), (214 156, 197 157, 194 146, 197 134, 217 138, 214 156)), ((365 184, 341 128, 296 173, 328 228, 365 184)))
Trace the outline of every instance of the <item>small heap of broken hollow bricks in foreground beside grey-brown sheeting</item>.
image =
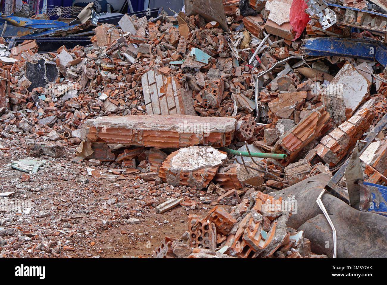
MULTIPOLYGON (((294 205, 294 200, 286 202, 294 205)), ((327 257, 310 252, 310 241, 303 231, 286 227, 291 207, 284 211, 281 204, 282 199, 249 190, 230 213, 215 206, 204 218, 189 215, 189 231, 180 239, 166 237, 154 257, 327 257)))

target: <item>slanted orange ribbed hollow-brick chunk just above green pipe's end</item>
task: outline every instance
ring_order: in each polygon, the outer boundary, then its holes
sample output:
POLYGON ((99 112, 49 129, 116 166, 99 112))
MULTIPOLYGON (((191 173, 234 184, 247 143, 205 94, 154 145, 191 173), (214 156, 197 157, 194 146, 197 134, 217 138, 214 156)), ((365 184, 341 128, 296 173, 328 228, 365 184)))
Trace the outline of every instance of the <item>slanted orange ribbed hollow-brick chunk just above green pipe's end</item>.
POLYGON ((273 153, 288 155, 279 162, 287 166, 295 161, 298 153, 312 140, 318 139, 331 127, 329 113, 322 107, 309 112, 294 128, 285 133, 273 147, 273 153))

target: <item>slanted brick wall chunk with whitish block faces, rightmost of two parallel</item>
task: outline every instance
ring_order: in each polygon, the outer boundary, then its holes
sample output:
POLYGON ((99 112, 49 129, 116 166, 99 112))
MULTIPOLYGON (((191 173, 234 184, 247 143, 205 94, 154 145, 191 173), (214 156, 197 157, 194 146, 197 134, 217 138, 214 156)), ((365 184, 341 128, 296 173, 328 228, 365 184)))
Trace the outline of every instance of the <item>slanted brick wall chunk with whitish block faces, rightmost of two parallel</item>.
POLYGON ((324 136, 315 147, 317 155, 330 167, 335 166, 347 154, 375 117, 372 109, 365 108, 324 136))

